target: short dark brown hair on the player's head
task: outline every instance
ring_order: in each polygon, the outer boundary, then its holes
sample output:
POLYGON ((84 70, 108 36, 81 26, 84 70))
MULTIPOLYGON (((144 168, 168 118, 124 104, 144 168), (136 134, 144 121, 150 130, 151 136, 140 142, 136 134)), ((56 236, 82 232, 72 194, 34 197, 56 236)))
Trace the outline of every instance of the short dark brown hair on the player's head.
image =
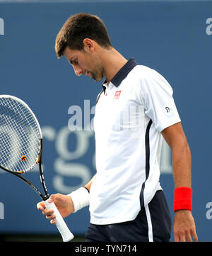
POLYGON ((72 50, 83 50, 85 38, 95 40, 103 48, 112 46, 107 28, 98 16, 77 13, 68 18, 57 35, 55 43, 57 57, 63 55, 66 46, 72 50))

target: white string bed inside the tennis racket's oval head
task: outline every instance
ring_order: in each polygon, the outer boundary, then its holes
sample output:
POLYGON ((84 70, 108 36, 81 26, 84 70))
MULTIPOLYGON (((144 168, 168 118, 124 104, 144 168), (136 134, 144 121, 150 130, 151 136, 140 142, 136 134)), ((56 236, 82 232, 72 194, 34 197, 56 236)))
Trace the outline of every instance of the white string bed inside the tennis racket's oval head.
POLYGON ((1 166, 27 172, 36 165, 40 132, 32 113, 15 99, 0 99, 0 145, 1 166))

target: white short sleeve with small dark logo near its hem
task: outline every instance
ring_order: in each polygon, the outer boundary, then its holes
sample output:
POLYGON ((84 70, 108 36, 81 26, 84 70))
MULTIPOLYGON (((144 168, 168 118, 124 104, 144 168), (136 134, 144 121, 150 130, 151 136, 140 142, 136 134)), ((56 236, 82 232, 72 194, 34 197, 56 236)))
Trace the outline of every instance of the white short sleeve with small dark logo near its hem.
POLYGON ((142 76, 140 89, 144 111, 159 132, 181 121, 172 97, 172 87, 162 75, 148 69, 142 76))

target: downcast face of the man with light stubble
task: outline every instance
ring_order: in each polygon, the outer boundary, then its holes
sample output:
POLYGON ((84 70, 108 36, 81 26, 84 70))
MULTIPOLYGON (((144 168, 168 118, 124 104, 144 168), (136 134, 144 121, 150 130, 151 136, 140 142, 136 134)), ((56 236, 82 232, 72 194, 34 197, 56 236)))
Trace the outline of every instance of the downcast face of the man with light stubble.
POLYGON ((71 50, 69 47, 66 47, 64 56, 72 65, 77 76, 85 74, 97 82, 102 80, 102 65, 100 61, 98 61, 98 57, 93 55, 92 52, 86 50, 71 50))

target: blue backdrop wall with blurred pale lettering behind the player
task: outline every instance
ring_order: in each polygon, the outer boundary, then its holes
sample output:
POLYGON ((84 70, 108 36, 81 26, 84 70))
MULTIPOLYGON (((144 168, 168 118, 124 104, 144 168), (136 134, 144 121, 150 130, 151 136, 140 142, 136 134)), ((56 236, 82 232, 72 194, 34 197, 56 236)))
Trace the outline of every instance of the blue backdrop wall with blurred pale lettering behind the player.
MULTIPOLYGON (((141 65, 158 70, 172 85, 192 150, 196 230, 200 241, 212 240, 212 19, 206 23, 211 11, 211 1, 0 2, 0 18, 4 19, 0 93, 23 99, 40 121, 45 138, 45 180, 51 194, 69 193, 95 174, 93 131, 71 133, 68 109, 76 105, 83 110, 84 100, 90 100, 90 108, 95 106, 101 83, 76 77, 68 62, 57 60, 54 52, 54 40, 66 19, 78 12, 93 13, 105 21, 114 48, 124 57, 135 57, 141 65)), ((172 213, 170 161, 166 148, 160 181, 172 213)), ((25 175, 39 184, 36 170, 25 175)), ((0 172, 0 202, 4 206, 0 233, 57 233, 36 210, 38 201, 27 185, 0 172)), ((66 223, 73 233, 85 233, 88 208, 66 218, 66 223)))

